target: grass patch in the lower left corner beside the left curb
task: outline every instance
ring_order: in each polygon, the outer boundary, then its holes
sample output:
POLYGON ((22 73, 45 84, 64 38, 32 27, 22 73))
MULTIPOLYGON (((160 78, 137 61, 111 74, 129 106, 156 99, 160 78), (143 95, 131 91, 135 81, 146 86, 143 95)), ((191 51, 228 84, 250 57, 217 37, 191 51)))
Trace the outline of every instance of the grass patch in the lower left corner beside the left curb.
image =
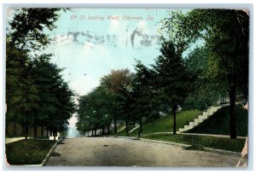
POLYGON ((54 144, 53 141, 32 139, 12 142, 5 145, 6 158, 9 165, 38 165, 54 144))

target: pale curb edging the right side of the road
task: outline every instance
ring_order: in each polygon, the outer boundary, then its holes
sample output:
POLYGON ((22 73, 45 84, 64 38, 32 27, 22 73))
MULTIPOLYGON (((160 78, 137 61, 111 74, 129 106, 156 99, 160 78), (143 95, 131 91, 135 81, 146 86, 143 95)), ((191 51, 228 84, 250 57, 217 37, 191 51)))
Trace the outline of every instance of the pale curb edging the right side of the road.
MULTIPOLYGON (((115 136, 116 137, 116 136, 115 136)), ((159 141, 159 140, 150 140, 146 138, 137 138, 137 137, 128 137, 128 136, 117 136, 118 138, 125 138, 125 139, 131 139, 131 140, 141 140, 144 142, 155 142, 155 143, 161 143, 161 144, 169 144, 169 145, 174 145, 177 147, 182 147, 182 148, 187 148, 191 145, 189 144, 182 144, 182 143, 177 143, 177 142, 164 142, 164 141, 159 141)), ((216 149, 216 148, 206 148, 209 152, 212 153, 218 153, 218 154, 233 154, 236 155, 237 157, 241 157, 241 153, 237 152, 232 152, 232 151, 227 151, 227 150, 221 150, 221 149, 216 149)))

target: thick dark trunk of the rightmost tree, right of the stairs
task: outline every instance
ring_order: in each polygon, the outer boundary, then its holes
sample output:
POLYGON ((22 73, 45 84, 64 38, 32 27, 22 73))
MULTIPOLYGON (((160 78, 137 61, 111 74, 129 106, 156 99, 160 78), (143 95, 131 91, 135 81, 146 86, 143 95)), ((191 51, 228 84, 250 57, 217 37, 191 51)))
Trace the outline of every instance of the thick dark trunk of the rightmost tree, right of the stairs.
POLYGON ((230 90, 230 138, 236 138, 236 84, 230 90))

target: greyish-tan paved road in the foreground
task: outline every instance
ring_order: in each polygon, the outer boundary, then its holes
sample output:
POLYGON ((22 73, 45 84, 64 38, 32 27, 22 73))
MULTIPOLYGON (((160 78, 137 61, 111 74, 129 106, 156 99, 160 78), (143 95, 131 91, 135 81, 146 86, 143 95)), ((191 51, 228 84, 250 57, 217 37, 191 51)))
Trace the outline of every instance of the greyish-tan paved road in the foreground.
POLYGON ((236 154, 184 150, 156 142, 115 137, 78 137, 59 144, 49 166, 235 166, 236 154))

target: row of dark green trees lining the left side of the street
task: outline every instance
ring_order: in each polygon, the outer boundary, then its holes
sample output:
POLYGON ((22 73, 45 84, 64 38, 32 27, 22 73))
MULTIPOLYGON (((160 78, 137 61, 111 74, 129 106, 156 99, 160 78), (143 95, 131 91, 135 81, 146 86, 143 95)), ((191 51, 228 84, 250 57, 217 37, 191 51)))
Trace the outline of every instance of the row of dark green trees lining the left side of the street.
MULTIPOLYGON (((74 92, 61 78, 60 67, 42 54, 50 44, 45 29, 52 31, 58 11, 66 9, 15 9, 6 36, 6 128, 20 124, 25 129, 37 127, 63 131, 75 112, 74 92), (35 18, 35 16, 37 16, 35 18)), ((42 136, 43 136, 42 129, 42 136)))

